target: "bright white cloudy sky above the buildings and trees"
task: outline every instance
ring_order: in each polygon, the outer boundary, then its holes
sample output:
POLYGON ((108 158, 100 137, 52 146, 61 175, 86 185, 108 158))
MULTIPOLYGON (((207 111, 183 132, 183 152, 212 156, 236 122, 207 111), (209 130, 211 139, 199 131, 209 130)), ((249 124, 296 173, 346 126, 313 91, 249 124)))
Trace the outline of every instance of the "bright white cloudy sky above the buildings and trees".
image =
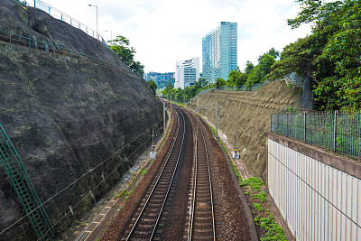
MULTIPOLYGON (((32 2, 32 0, 27 0, 32 2)), ((294 0, 42 0, 88 27, 105 40, 129 39, 145 72, 174 72, 176 60, 199 57, 202 38, 220 22, 238 23, 238 66, 274 47, 278 51, 310 33, 310 26, 292 30, 288 18, 299 5, 294 0), (106 32, 106 30, 108 32, 106 32)), ((32 2, 33 3, 33 2, 32 2)))

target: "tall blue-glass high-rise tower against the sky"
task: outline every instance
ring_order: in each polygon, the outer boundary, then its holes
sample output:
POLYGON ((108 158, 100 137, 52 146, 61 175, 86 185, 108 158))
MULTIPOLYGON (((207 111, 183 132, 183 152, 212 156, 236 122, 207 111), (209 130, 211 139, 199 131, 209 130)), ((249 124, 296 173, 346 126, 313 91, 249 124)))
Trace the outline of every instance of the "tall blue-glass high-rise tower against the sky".
POLYGON ((202 39, 203 78, 209 83, 227 80, 237 68, 237 23, 221 22, 202 39))

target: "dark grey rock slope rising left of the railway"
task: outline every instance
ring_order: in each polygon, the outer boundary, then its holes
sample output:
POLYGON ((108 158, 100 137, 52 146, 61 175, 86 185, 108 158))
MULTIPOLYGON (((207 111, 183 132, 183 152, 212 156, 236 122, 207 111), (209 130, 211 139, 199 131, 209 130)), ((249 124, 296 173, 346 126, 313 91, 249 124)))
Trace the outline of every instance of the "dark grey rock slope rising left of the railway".
MULTIPOLYGON (((35 31, 39 25, 55 42, 125 66, 86 33, 42 11, 0 0, 0 30, 50 41, 35 31)), ((0 99, 0 123, 40 199, 50 199, 45 209, 51 221, 61 218, 55 226, 58 233, 94 203, 92 195, 98 199, 119 181, 136 155, 151 144, 146 142, 152 128, 162 127, 161 102, 130 70, 5 42, 0 42, 0 99)), ((0 232, 22 217, 19 200, 0 167, 0 232)), ((27 218, 0 235, 1 240, 33 238, 27 218)))

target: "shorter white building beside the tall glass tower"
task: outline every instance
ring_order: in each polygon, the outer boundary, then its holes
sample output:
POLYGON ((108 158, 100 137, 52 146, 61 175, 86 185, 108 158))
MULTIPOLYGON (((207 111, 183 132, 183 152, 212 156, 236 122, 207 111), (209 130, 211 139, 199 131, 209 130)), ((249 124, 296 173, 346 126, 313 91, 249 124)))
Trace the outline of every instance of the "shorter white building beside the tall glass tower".
POLYGON ((179 60, 175 71, 174 88, 186 88, 194 85, 199 79, 199 57, 190 60, 179 60))

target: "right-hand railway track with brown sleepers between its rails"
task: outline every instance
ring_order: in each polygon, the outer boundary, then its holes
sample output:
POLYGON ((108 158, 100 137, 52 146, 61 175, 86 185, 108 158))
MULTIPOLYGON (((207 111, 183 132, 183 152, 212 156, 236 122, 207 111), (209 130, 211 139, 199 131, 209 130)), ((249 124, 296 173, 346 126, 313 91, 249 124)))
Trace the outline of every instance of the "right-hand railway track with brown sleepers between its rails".
POLYGON ((216 240, 215 207, 206 136, 199 124, 199 117, 189 116, 193 119, 195 133, 195 162, 187 239, 216 240))

